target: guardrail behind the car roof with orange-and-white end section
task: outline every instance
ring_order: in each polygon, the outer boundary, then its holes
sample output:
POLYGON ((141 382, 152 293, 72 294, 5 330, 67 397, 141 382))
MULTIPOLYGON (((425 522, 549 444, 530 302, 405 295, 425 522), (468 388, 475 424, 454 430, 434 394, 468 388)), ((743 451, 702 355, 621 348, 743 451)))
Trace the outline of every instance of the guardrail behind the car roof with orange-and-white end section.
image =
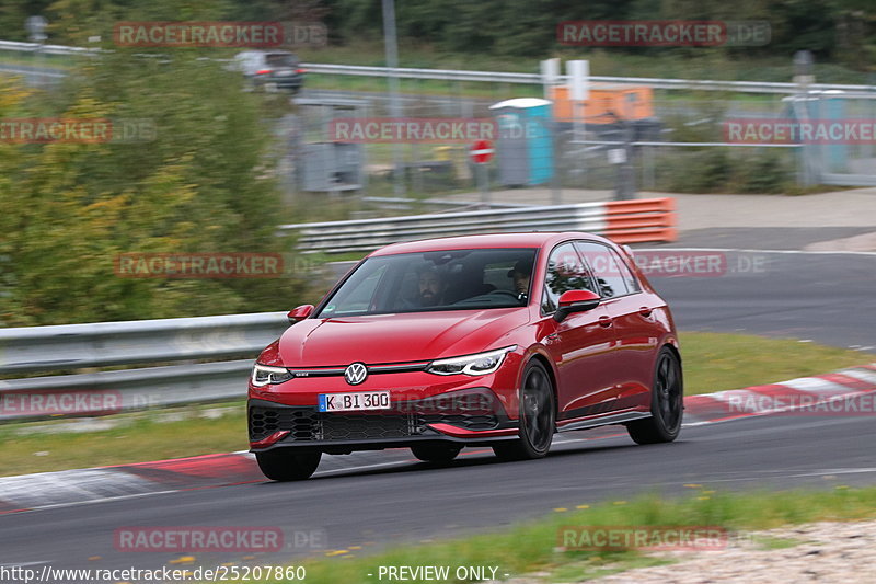
POLYGON ((464 213, 408 215, 279 226, 298 232, 302 252, 371 251, 389 243, 441 236, 509 231, 589 231, 619 243, 675 241, 675 201, 652 198, 464 213))

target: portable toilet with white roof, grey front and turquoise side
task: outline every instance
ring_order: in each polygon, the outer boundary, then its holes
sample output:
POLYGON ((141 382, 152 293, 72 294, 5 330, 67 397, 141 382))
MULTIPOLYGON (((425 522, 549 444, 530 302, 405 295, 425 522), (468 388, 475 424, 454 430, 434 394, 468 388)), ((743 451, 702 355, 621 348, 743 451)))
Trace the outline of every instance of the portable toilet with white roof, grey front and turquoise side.
POLYGON ((506 100, 489 106, 498 135, 499 182, 506 186, 544 184, 554 173, 552 102, 506 100))

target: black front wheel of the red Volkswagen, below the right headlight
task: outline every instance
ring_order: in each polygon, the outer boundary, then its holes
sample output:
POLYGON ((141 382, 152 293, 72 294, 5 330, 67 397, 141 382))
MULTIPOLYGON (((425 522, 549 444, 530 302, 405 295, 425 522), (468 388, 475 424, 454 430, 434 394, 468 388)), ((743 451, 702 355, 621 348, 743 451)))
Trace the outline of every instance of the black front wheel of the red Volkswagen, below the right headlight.
POLYGON ((538 360, 529 362, 523 371, 519 421, 519 437, 493 446, 496 456, 503 460, 531 460, 546 456, 556 432, 556 408, 551 377, 538 360))

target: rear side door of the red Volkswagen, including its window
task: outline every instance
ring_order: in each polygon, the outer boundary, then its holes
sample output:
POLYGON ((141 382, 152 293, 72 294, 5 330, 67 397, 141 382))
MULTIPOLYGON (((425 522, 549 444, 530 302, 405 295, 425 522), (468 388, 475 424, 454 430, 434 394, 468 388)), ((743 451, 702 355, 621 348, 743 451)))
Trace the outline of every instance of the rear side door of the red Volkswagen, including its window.
POLYGON ((596 241, 577 241, 575 247, 596 276, 615 334, 613 409, 647 405, 658 342, 654 302, 614 249, 596 241))

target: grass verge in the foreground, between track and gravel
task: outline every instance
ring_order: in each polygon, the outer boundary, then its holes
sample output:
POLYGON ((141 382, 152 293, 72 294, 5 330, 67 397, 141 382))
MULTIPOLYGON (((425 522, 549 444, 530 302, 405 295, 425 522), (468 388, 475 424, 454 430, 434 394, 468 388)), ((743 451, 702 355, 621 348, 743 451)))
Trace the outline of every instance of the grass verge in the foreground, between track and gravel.
MULTIPOLYGON (((458 566, 496 566, 502 579, 538 574, 532 582, 579 582, 633 568, 668 563, 635 549, 620 551, 563 551, 558 531, 564 526, 696 527, 719 526, 727 530, 728 545, 750 541, 753 549, 780 549, 800 543, 749 531, 788 524, 850 520, 876 516, 876 488, 831 491, 715 493, 699 490, 693 496, 664 499, 648 494, 631 501, 604 502, 583 509, 555 509, 548 518, 517 524, 500 533, 453 540, 410 545, 359 557, 354 549, 328 550, 325 558, 301 565, 310 584, 380 582, 380 566, 450 566, 443 582, 471 582, 453 577, 458 566), (751 537, 749 537, 751 535, 751 537), (369 575, 370 574, 370 575, 369 575), (507 576, 505 575, 507 574, 507 576)), ((578 507, 588 507, 583 501, 578 507)), ((385 581, 385 576, 383 579, 385 581)), ((286 582, 277 580, 274 582, 286 582)), ((418 583, 427 580, 412 579, 418 583)))

